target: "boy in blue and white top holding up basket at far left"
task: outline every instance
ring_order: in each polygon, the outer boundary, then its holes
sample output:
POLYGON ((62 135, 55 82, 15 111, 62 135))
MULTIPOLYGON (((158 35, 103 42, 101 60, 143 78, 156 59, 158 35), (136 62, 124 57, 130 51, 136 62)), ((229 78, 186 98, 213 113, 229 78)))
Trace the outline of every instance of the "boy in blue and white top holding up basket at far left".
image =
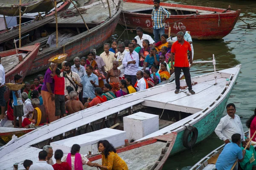
MULTIPOLYGON (((22 83, 22 76, 16 74, 14 76, 14 82, 15 83, 22 83)), ((21 97, 20 90, 18 91, 12 91, 12 97, 13 97, 13 123, 14 127, 17 127, 16 125, 16 119, 19 118, 19 127, 22 128, 22 116, 24 115, 23 112, 23 102, 21 97)))

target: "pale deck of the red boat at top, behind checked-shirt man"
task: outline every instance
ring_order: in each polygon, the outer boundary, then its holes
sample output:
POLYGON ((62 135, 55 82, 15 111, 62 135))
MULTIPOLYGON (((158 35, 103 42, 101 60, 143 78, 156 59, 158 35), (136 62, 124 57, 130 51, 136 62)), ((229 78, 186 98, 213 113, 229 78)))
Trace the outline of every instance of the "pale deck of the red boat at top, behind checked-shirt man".
MULTIPOLYGON (((191 11, 191 12, 196 11, 195 9, 190 9, 190 8, 178 8, 178 7, 164 6, 163 4, 161 6, 163 8, 172 9, 172 10, 175 10, 175 11, 178 11, 178 10, 179 11, 191 11)), ((154 7, 154 5, 149 5, 149 4, 124 2, 122 11, 125 11, 125 12, 146 11, 146 10, 152 10, 153 7, 154 7)), ((212 14, 212 11, 198 10, 198 13, 212 14)))

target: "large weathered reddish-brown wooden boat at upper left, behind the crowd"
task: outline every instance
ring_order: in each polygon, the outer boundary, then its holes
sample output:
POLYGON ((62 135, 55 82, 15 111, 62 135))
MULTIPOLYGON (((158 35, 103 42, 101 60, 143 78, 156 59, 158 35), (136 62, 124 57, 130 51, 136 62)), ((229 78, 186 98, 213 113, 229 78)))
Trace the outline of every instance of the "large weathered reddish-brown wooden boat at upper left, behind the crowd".
MULTIPOLYGON (((108 18, 101 23, 93 22, 93 16, 99 15, 98 10, 101 10, 101 14, 109 15, 106 0, 96 1, 90 5, 80 7, 81 10, 86 10, 86 13, 82 14, 82 16, 89 27, 89 31, 85 28, 81 16, 68 18, 58 17, 59 33, 71 33, 73 34, 73 37, 70 37, 68 42, 58 45, 58 47, 46 47, 46 42, 49 36, 36 40, 35 42, 41 43, 41 48, 43 50, 38 53, 38 56, 34 61, 35 64, 30 68, 30 73, 34 74, 38 71, 47 69, 47 67, 49 67, 48 59, 55 55, 62 54, 63 52, 68 54, 66 60, 70 61, 75 57, 84 56, 91 48, 98 49, 102 47, 115 31, 122 9, 122 0, 111 1, 110 7, 111 18, 108 18), (104 8, 104 6, 106 8, 104 8)), ((76 8, 71 8, 69 10, 74 12, 77 11, 76 8)), ((55 30, 55 21, 48 23, 48 25, 50 26, 49 29, 55 30)))

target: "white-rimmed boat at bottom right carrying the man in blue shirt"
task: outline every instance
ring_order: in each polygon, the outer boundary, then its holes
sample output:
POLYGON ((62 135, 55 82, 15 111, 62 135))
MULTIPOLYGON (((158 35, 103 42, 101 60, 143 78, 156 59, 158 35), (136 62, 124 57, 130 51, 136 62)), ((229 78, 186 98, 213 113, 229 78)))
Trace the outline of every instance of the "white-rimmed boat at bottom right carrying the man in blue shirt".
MULTIPOLYGON (((248 131, 244 133, 245 136, 248 135, 248 131)), ((225 144, 222 144, 220 147, 217 147, 203 159, 198 161, 190 170, 215 170, 215 164, 218 159, 218 156, 221 154, 224 149, 225 144)), ((254 145, 255 147, 255 145, 254 145)))

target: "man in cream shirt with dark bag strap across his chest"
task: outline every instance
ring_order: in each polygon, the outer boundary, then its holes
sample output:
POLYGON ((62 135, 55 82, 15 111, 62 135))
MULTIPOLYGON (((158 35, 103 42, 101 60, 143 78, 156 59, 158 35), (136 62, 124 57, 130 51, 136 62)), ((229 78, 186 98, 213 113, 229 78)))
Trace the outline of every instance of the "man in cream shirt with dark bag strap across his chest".
POLYGON ((69 93, 71 91, 76 91, 79 94, 82 90, 81 87, 76 85, 73 81, 73 78, 77 80, 77 82, 81 82, 79 75, 73 71, 71 71, 71 64, 70 62, 66 62, 64 64, 64 72, 61 73, 61 76, 65 78, 65 99, 66 101, 70 99, 69 93))

